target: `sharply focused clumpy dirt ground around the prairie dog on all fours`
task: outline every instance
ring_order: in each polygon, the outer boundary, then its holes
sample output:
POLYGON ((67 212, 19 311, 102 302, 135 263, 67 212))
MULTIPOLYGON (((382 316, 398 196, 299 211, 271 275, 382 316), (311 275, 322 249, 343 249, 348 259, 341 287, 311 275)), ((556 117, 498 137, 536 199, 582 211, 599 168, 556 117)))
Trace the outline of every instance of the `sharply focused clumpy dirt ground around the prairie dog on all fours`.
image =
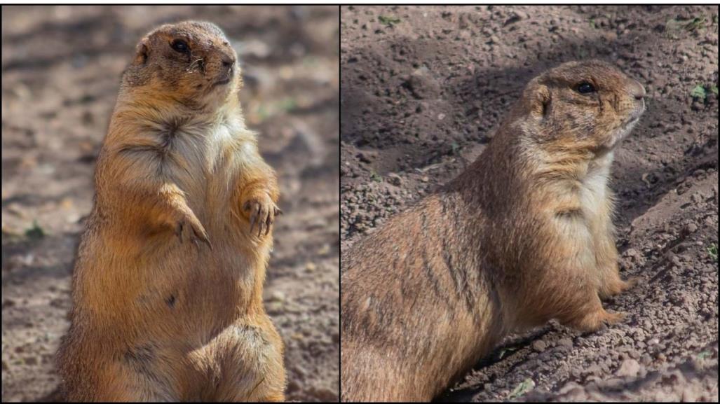
POLYGON ((622 324, 508 337, 439 401, 718 400, 718 9, 341 7, 341 247, 458 175, 525 84, 601 58, 647 112, 616 152, 622 324))

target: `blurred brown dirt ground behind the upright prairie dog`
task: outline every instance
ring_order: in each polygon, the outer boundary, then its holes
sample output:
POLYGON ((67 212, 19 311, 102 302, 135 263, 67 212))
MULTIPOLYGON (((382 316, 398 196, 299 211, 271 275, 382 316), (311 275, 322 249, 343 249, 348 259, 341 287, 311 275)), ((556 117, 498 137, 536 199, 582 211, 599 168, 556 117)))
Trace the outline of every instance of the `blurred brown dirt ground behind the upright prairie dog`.
POLYGON ((289 400, 338 399, 338 7, 2 8, 2 400, 56 399, 78 237, 120 72, 164 22, 215 22, 238 49, 248 127, 284 216, 266 308, 289 400))

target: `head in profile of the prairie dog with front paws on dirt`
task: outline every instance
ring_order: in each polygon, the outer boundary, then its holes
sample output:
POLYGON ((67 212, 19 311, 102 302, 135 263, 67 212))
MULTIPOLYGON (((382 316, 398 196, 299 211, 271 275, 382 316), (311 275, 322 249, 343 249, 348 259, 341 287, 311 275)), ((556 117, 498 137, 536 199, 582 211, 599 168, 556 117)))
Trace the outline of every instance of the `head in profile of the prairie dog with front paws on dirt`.
POLYGON ((569 62, 534 78, 523 92, 527 132, 540 143, 606 152, 645 111, 645 89, 600 60, 569 62))

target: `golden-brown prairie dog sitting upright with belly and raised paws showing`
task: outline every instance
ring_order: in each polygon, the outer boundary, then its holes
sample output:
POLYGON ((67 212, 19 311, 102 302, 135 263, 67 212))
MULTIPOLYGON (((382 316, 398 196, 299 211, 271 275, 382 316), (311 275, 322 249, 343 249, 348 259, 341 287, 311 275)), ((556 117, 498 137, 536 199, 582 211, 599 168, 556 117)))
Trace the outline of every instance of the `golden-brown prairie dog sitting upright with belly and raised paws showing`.
POLYGON ((58 352, 71 401, 282 401, 262 304, 276 175, 207 22, 150 32, 122 75, 58 352))

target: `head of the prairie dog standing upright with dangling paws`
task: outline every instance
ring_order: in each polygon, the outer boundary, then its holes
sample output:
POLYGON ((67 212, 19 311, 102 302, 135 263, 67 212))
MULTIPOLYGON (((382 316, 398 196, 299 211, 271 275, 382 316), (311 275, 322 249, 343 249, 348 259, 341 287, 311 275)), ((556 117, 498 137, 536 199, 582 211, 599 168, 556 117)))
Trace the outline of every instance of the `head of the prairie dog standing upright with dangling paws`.
POLYGON ((122 87, 153 101, 204 109, 222 104, 240 88, 237 59, 215 24, 165 24, 140 40, 122 87))

